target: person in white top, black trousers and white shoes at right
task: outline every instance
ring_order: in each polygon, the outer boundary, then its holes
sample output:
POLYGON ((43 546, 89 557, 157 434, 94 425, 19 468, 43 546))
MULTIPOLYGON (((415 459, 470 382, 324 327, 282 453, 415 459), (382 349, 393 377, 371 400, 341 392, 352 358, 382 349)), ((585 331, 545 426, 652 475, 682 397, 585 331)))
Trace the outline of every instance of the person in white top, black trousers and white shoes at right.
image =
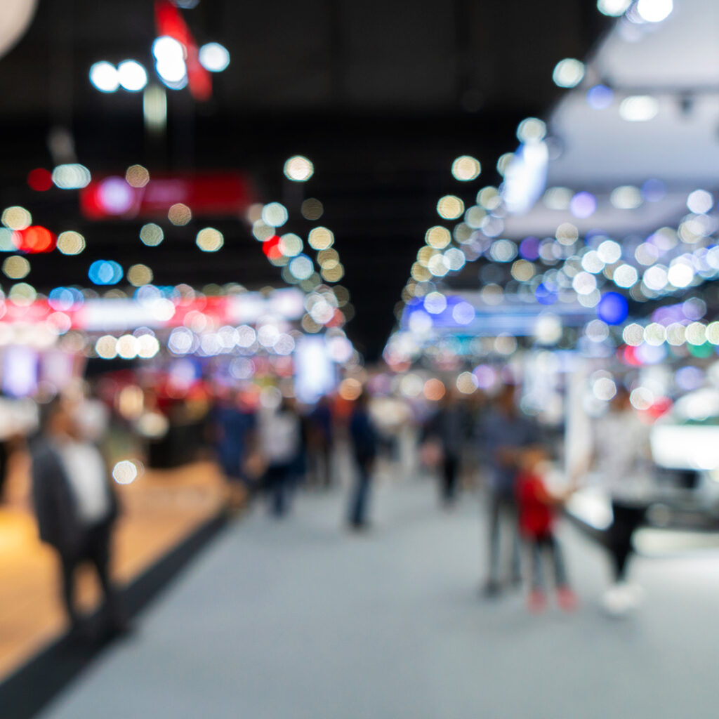
POLYGON ((613 515, 605 544, 614 583, 602 603, 608 613, 620 615, 641 603, 641 588, 627 581, 627 568, 633 554, 632 537, 644 522, 651 493, 649 426, 631 406, 626 388, 619 387, 594 429, 593 465, 600 485, 610 495, 613 515))

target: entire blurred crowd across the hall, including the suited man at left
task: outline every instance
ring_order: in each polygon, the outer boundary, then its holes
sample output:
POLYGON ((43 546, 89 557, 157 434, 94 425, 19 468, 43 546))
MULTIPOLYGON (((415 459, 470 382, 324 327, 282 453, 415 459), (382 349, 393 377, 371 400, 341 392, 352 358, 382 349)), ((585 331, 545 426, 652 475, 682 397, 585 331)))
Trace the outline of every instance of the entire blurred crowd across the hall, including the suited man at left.
MULTIPOLYGON (((627 582, 626 572, 650 486, 643 449, 648 444, 646 426, 620 388, 609 411, 597 421, 595 451, 558 490, 547 481, 547 469, 557 454, 556 437, 548 437, 521 411, 519 393, 512 383, 478 403, 447 393, 433 413, 416 421, 418 456, 425 470, 436 475, 445 510, 456 505, 468 477, 482 477, 488 548, 483 593, 499 597, 525 586, 528 609, 539 612, 547 604, 545 587, 551 575, 557 604, 574 610, 577 597, 569 586, 555 526, 577 486, 600 477, 613 509, 603 543, 612 560, 614 582, 603 603, 615 615, 636 607, 641 592, 627 582)), ((46 403, 40 431, 29 442, 40 538, 57 550, 63 603, 76 636, 88 634, 74 590, 75 569, 83 562, 96 569, 104 590, 101 626, 93 631, 115 633, 127 626, 110 571, 111 531, 119 507, 96 445, 102 423, 87 421, 93 402, 55 398, 46 403)), ((242 393, 229 393, 215 403, 207 419, 208 439, 229 483, 241 487, 250 503, 264 502, 275 518, 290 513, 303 485, 327 490, 338 483, 336 444, 341 438, 353 460, 344 521, 353 532, 370 527, 371 488, 383 433, 367 390, 343 403, 339 412, 330 397, 301 411, 290 398, 275 406, 252 406, 242 393)))

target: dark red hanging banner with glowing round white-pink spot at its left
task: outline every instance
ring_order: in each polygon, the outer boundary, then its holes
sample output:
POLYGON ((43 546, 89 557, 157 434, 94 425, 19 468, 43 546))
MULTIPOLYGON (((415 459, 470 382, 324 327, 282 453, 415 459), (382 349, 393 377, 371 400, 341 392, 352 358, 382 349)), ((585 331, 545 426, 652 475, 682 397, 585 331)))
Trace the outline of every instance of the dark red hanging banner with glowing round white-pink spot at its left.
POLYGON ((237 217, 256 200, 247 175, 237 172, 152 175, 143 187, 110 176, 92 180, 80 191, 80 209, 91 220, 157 219, 167 217, 178 203, 197 216, 237 217))

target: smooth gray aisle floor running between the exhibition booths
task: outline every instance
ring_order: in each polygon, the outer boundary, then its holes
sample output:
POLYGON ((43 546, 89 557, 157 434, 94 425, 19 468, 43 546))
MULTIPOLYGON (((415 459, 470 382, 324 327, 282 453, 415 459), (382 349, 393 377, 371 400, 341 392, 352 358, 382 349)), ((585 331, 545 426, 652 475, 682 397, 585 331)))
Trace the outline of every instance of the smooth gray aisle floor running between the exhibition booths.
POLYGON ((339 491, 232 526, 45 718, 718 714, 718 551, 637 559, 644 608, 612 620, 605 557, 563 527, 580 608, 533 616, 479 598, 478 500, 442 513, 426 481, 374 499, 368 536, 342 530, 339 491))

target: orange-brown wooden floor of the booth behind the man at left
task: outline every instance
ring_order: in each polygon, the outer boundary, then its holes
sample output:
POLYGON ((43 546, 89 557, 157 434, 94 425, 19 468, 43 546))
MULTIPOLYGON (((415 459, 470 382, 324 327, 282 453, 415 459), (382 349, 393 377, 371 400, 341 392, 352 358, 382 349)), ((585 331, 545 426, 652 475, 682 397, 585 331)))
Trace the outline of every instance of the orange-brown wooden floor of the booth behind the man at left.
MULTIPOLYGON (((12 470, 6 504, 0 506, 0 681, 65 629, 58 559, 37 537, 26 459, 17 459, 12 470)), ((122 517, 114 536, 113 573, 121 585, 216 516, 227 496, 211 462, 148 470, 118 489, 122 517)), ((81 602, 91 608, 98 587, 89 570, 78 574, 81 602)))

